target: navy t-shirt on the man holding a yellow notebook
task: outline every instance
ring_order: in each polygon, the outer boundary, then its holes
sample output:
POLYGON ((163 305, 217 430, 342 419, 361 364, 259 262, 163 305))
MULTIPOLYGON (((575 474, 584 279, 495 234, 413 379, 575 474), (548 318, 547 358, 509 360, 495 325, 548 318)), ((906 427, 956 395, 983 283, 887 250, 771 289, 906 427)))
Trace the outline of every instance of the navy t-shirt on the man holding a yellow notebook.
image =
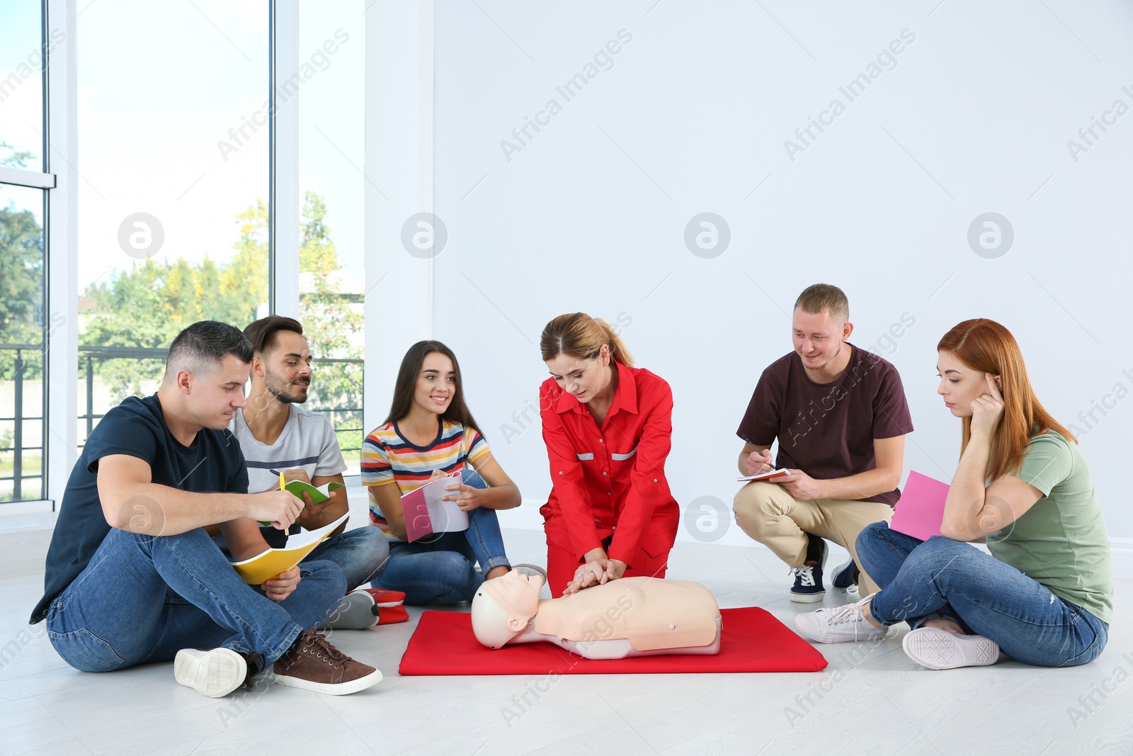
MULTIPOLYGON (((161 411, 157 394, 129 397, 102 418, 86 440, 83 453, 71 470, 51 547, 48 549, 43 598, 32 612, 32 622, 48 615, 56 596, 86 569, 87 563, 110 533, 110 525, 99 501, 99 460, 110 455, 129 455, 150 465, 154 483, 194 493, 247 493, 248 469, 236 436, 223 431, 202 428, 193 447, 181 444, 161 411)), ((160 517, 160 504, 135 507, 135 517, 160 517), (155 510, 155 511, 150 511, 155 510)))

